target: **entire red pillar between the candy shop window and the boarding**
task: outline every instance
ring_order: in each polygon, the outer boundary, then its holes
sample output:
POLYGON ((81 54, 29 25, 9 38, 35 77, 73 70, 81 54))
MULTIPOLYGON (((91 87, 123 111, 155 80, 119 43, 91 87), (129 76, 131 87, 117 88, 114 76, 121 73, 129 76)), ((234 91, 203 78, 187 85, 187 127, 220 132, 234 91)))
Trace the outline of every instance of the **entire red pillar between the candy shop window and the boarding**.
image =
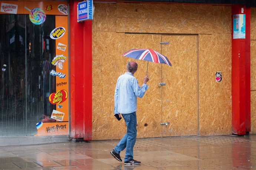
POLYGON ((70 137, 92 140, 92 21, 77 22, 70 1, 70 137))

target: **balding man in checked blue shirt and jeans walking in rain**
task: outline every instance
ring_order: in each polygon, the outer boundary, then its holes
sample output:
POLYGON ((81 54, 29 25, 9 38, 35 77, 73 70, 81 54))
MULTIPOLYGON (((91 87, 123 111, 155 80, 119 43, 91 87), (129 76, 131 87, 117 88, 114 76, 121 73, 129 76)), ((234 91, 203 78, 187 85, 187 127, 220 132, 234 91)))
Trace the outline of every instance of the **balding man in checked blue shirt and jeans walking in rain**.
POLYGON ((142 98, 148 89, 147 82, 149 80, 146 75, 143 79, 143 84, 140 87, 138 80, 134 77, 137 71, 138 64, 134 61, 127 63, 127 72, 119 76, 115 88, 115 108, 114 114, 118 114, 121 118, 123 116, 127 125, 127 133, 120 140, 120 142, 111 150, 111 155, 120 162, 120 152, 126 148, 124 164, 137 165, 141 162, 133 159, 133 147, 137 137, 137 97, 142 98))

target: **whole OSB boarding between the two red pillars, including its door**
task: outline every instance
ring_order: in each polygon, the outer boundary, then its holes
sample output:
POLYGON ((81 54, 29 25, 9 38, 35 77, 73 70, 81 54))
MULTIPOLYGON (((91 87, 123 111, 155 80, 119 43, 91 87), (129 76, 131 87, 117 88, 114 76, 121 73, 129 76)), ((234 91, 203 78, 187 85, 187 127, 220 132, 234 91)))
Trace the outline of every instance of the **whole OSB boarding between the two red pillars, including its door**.
MULTIPOLYGON (((92 140, 120 139, 125 133, 124 120, 114 118, 114 90, 131 61, 122 54, 132 48, 152 48, 173 64, 148 65, 150 88, 138 99, 137 137, 231 135, 231 7, 94 5, 92 140), (160 124, 165 122, 170 124, 160 124)), ((147 62, 136 62, 141 85, 147 62)))

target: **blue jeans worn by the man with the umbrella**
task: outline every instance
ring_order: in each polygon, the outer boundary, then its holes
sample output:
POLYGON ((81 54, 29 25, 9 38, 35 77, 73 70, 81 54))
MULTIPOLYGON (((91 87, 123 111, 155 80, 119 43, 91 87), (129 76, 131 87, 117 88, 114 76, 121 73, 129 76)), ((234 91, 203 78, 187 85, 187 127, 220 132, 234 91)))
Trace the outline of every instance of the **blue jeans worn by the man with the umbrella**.
POLYGON ((137 137, 137 117, 136 112, 132 112, 129 114, 122 114, 125 123, 127 125, 127 133, 120 140, 120 142, 115 146, 116 153, 120 154, 122 150, 126 147, 125 158, 124 161, 129 161, 133 159, 133 147, 136 142, 137 137))

